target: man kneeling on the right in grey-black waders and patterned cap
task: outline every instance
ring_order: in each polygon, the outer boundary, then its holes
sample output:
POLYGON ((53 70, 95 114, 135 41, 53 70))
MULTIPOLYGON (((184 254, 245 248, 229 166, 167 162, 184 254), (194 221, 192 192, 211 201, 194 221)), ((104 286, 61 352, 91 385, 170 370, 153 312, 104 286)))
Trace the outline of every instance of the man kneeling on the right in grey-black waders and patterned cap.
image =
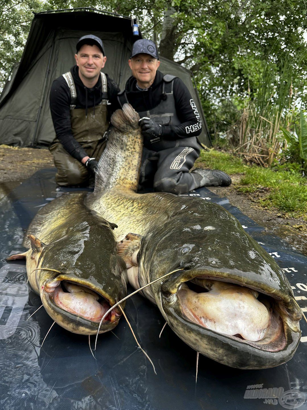
POLYGON ((190 169, 199 157, 201 119, 185 84, 158 71, 156 44, 141 39, 133 44, 129 66, 132 76, 118 95, 121 106, 129 102, 140 115, 144 148, 140 187, 183 194, 202 186, 231 184, 219 170, 190 169))

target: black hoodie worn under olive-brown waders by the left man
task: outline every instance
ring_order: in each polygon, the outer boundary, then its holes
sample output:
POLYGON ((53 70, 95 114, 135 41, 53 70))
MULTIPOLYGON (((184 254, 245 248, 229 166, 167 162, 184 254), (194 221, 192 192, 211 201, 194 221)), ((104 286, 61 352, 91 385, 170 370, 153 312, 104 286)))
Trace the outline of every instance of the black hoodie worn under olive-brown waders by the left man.
MULTIPOLYGON (((101 76, 99 75, 98 81, 93 88, 87 88, 79 77, 79 69, 77 66, 73 66, 70 72, 72 73, 77 91, 76 108, 86 109, 98 105, 102 100, 101 76)), ((111 103, 111 105, 107 106, 108 119, 110 119, 112 112, 118 108, 116 96, 120 89, 117 84, 108 77, 108 74, 106 74, 106 77, 108 83, 108 100, 109 103, 111 103)), ((70 89, 63 75, 52 83, 50 90, 50 111, 56 137, 68 154, 78 159, 78 161, 81 161, 82 158, 87 156, 87 153, 72 135, 70 122, 70 89)), ((86 114, 84 113, 84 115, 86 114)))

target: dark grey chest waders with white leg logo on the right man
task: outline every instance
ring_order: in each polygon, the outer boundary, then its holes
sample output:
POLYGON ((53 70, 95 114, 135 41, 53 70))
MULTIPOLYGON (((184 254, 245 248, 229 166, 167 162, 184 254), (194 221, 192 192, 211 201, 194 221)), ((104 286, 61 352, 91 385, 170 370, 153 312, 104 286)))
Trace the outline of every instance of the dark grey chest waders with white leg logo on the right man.
MULTIPOLYGON (((179 125, 174 99, 174 75, 163 76, 162 93, 165 100, 147 111, 140 111, 140 118, 149 117, 160 125, 179 125)), ((147 92, 147 91, 144 91, 147 92)), ((129 103, 126 92, 118 95, 121 106, 129 103)), ((200 186, 200 177, 190 173, 199 157, 201 146, 196 137, 167 139, 167 137, 144 137, 140 188, 152 187, 155 191, 184 194, 200 186)))

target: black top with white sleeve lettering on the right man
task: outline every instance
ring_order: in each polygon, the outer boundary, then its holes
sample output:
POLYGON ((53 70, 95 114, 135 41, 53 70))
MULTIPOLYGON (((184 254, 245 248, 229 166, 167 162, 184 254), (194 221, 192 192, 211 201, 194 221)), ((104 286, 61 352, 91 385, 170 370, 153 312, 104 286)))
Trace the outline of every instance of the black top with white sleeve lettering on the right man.
MULTIPOLYGON (((153 84, 147 91, 136 87, 136 79, 130 77, 126 82, 126 96, 135 111, 142 112, 156 107, 163 99, 163 76, 156 72, 153 84)), ((163 125, 162 135, 170 139, 196 137, 201 133, 201 119, 190 91, 180 78, 174 79, 174 99, 180 125, 163 125)))

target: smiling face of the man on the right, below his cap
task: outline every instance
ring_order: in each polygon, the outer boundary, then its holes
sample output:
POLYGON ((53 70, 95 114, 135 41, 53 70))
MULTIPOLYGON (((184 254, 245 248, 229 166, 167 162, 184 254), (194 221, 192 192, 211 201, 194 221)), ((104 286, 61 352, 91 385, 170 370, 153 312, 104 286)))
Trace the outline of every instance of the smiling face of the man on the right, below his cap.
POLYGON ((129 60, 133 77, 140 88, 148 88, 153 83, 160 61, 149 54, 137 54, 129 60))

